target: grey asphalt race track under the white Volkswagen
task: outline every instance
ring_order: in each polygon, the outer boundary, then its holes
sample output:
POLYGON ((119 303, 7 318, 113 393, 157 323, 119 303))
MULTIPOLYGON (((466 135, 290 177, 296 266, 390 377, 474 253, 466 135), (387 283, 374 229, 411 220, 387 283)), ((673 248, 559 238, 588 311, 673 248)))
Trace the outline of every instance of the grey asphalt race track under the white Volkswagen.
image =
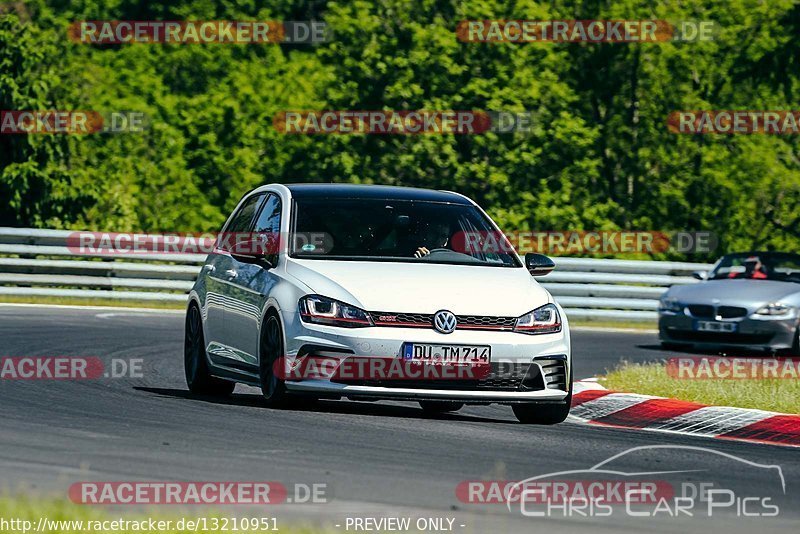
MULTIPOLYGON (((279 526, 312 522, 334 532, 347 531, 347 517, 387 515, 451 517, 455 532, 480 533, 796 531, 800 520, 798 449, 572 421, 526 426, 504 406, 467 407, 439 417, 400 402, 324 401, 271 410, 261 405, 257 390, 244 386, 229 399, 195 398, 183 378, 182 336, 183 317, 176 313, 0 305, 2 357, 143 360, 141 378, 0 380, 0 486, 64 497, 81 480, 325 483, 330 502, 285 504, 269 513, 279 526), (464 503, 455 493, 465 480, 588 469, 646 445, 706 447, 780 466, 786 489, 778 497, 779 516, 742 518, 732 507, 713 519, 534 518, 503 505, 464 503)), ((623 359, 667 356, 652 333, 577 331, 573 346, 576 378, 623 359)), ((751 495, 779 489, 772 470, 746 469, 721 455, 685 448, 632 457, 625 468, 647 472, 678 465, 751 495)))

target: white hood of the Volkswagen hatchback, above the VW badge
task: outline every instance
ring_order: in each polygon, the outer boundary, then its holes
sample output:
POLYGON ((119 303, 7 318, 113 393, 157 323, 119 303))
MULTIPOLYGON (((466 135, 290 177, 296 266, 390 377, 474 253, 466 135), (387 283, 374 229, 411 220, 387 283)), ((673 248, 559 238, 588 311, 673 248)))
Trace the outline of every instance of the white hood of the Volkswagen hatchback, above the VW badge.
POLYGON ((368 311, 516 317, 552 302, 524 268, 292 259, 286 271, 368 311))

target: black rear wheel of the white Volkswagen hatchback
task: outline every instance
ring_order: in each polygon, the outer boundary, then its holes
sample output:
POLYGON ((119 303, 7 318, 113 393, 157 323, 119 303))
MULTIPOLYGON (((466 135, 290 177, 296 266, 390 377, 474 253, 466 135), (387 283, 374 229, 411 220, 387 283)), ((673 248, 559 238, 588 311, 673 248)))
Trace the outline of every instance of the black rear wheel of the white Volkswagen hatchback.
POLYGON ((228 396, 236 387, 235 382, 211 376, 206 360, 206 342, 203 336, 200 308, 194 303, 186 312, 183 370, 186 375, 186 385, 189 386, 189 391, 195 395, 228 396))

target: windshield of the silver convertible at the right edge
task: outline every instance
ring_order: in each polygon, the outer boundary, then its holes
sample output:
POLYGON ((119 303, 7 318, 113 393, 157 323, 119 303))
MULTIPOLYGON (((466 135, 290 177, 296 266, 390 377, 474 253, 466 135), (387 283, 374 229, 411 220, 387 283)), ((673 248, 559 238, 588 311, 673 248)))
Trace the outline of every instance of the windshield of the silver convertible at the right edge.
POLYGON ((711 271, 711 280, 778 280, 800 283, 800 255, 780 252, 724 256, 711 271))

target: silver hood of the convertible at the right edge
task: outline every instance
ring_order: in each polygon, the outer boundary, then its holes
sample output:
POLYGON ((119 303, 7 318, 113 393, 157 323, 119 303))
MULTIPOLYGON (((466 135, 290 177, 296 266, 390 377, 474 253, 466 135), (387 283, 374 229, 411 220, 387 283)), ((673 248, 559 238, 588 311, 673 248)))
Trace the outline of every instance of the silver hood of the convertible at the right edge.
POLYGON ((672 298, 687 303, 710 303, 718 299, 723 304, 745 307, 763 306, 800 292, 800 284, 774 280, 709 280, 686 286, 673 286, 667 292, 672 298))

